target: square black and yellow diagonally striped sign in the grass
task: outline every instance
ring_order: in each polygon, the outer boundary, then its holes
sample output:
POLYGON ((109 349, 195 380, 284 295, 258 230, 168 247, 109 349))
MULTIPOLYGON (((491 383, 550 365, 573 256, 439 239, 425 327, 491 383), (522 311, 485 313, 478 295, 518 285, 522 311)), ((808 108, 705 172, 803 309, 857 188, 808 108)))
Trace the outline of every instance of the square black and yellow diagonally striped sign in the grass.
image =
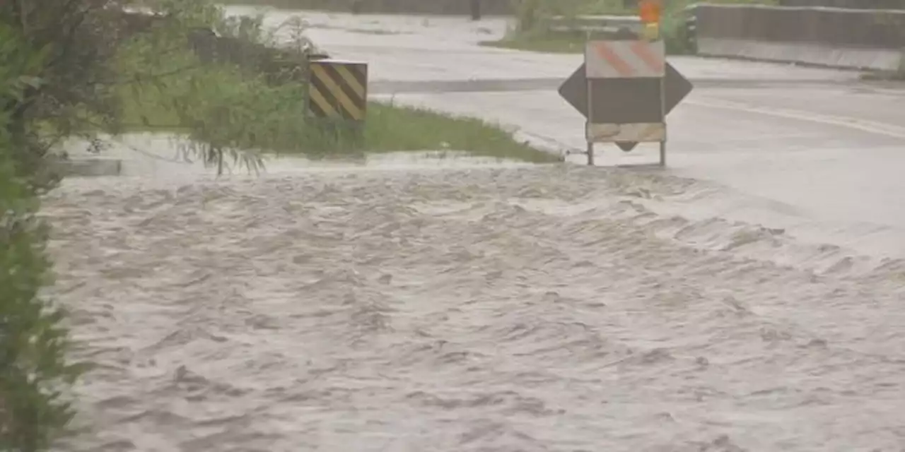
POLYGON ((308 108, 318 118, 364 120, 367 63, 311 61, 308 108))

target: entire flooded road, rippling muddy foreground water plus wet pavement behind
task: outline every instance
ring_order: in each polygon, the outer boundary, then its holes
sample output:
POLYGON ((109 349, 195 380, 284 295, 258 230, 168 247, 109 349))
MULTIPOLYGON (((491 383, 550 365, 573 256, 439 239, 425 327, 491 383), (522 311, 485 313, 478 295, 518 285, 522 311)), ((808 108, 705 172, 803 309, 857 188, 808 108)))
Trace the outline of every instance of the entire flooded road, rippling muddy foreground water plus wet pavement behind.
MULTIPOLYGON (((583 145, 555 91, 578 57, 477 47, 495 20, 307 17, 376 98, 583 145)), ((664 171, 65 181, 54 295, 99 364, 71 450, 902 450, 905 98, 673 63, 697 89, 664 171)))

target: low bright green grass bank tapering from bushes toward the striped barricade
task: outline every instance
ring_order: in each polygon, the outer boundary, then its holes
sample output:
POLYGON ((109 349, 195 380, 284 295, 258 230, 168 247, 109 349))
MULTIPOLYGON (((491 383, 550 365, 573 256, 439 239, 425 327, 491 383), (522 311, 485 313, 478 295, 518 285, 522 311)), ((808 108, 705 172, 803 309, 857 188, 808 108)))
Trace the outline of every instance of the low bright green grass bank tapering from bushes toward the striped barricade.
POLYGON ((198 118, 210 118, 211 112, 228 106, 235 120, 260 123, 260 127, 245 131, 210 131, 238 149, 258 148, 312 158, 456 149, 537 163, 557 161, 556 155, 519 143, 480 119, 451 118, 423 108, 369 102, 363 130, 331 127, 313 123, 306 115, 305 93, 299 85, 271 88, 261 79, 243 80, 221 72, 202 72, 197 77, 199 88, 195 90, 182 84, 169 85, 166 91, 151 86, 129 89, 123 108, 126 129, 185 131, 186 121, 176 115, 177 110, 167 108, 167 103, 186 93, 186 99, 190 99, 186 102, 197 108, 189 114, 198 118), (216 86, 230 89, 209 88, 216 86), (209 94, 208 90, 215 92, 209 94))

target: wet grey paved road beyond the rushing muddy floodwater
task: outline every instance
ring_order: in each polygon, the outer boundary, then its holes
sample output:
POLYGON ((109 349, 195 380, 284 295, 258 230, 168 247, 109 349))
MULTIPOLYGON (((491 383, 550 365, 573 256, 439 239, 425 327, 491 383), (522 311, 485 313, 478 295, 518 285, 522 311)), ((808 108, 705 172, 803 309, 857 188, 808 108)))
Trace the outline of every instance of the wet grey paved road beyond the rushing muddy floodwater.
MULTIPOLYGON (((321 47, 370 64, 376 99, 486 118, 556 150, 584 147, 583 118, 556 93, 579 55, 478 46, 505 32, 501 19, 305 18, 321 47)), ((671 174, 724 186, 724 216, 872 256, 905 256, 905 89, 861 83, 853 71, 693 57, 672 64, 696 90, 670 116, 671 174), (727 201, 728 193, 738 197, 727 201)), ((610 147, 598 165, 655 158, 653 146, 630 154, 610 147)), ((714 213, 705 204, 716 205, 698 203, 700 215, 714 213)))

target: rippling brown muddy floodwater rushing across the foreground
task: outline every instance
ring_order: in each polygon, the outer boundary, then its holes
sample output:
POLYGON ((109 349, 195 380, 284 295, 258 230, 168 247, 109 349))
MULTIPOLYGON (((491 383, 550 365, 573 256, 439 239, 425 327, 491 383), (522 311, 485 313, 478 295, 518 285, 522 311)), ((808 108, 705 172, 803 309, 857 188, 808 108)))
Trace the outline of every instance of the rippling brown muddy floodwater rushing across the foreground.
POLYGON ((905 446, 905 266, 561 165, 66 181, 81 451, 905 446))

